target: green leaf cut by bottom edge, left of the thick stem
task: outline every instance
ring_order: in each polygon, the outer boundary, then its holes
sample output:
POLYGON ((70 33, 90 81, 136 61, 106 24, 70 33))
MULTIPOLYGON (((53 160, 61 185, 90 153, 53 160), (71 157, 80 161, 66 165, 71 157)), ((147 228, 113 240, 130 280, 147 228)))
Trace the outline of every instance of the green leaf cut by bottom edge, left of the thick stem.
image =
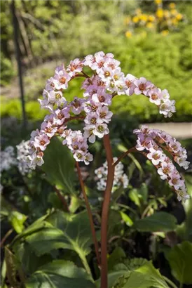
POLYGON ((71 261, 55 260, 37 270, 26 288, 94 288, 90 276, 71 261))

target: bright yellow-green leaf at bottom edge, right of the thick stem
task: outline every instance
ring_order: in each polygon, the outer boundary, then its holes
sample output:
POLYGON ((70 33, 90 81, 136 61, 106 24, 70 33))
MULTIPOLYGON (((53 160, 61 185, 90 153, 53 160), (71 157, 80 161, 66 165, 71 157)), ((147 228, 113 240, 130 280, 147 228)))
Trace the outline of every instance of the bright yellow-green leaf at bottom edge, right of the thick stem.
POLYGON ((151 262, 137 268, 130 273, 128 281, 122 288, 169 288, 160 272, 153 267, 151 262))

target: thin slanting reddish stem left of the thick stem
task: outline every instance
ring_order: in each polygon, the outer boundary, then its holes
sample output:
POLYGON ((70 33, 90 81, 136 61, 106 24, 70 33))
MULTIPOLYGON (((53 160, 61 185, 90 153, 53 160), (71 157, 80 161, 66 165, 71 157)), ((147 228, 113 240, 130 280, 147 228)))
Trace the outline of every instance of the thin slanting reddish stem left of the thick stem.
POLYGON ((92 219, 92 212, 91 212, 91 209, 90 209, 90 204, 88 202, 88 197, 87 197, 86 192, 85 192, 85 185, 84 185, 83 179, 81 177, 81 170, 80 170, 80 167, 78 165, 78 162, 76 162, 76 169, 77 169, 77 172, 78 172, 78 180, 79 180, 79 182, 81 184, 81 190, 83 192, 83 197, 85 199, 86 209, 88 211, 88 217, 89 217, 89 221, 90 221, 90 229, 91 229, 91 233, 92 233, 92 240, 93 240, 94 245, 95 245, 95 254, 97 256, 97 262, 98 262, 98 265, 100 267, 101 263, 100 263, 99 245, 98 245, 98 242, 97 242, 95 226, 94 226, 93 219, 92 219))

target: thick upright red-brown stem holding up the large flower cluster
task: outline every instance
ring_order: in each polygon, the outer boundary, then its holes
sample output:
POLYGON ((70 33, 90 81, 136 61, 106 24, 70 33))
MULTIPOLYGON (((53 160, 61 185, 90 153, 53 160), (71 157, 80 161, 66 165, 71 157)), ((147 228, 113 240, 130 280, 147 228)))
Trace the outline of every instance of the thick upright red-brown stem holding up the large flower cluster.
POLYGON ((108 174, 107 185, 104 192, 104 201, 102 206, 102 230, 101 230, 101 259, 102 259, 102 271, 101 271, 101 288, 107 288, 107 225, 109 218, 109 204, 111 199, 111 190, 114 183, 114 171, 113 155, 111 150, 111 143, 109 134, 103 138, 104 149, 107 156, 108 174))

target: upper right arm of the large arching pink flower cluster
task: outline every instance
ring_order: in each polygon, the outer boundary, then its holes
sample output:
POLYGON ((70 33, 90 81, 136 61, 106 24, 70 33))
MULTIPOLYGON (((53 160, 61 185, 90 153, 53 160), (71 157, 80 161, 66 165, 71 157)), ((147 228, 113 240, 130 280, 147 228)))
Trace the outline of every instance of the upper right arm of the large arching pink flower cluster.
POLYGON ((137 79, 132 74, 125 76, 119 67, 120 62, 114 59, 113 54, 98 52, 94 56, 88 55, 85 57, 84 65, 96 70, 100 81, 111 93, 128 96, 132 96, 133 93, 136 95, 143 94, 149 98, 151 103, 158 105, 160 114, 165 117, 171 117, 172 113, 176 111, 175 101, 170 100, 170 95, 166 89, 157 88, 144 77, 137 79))

